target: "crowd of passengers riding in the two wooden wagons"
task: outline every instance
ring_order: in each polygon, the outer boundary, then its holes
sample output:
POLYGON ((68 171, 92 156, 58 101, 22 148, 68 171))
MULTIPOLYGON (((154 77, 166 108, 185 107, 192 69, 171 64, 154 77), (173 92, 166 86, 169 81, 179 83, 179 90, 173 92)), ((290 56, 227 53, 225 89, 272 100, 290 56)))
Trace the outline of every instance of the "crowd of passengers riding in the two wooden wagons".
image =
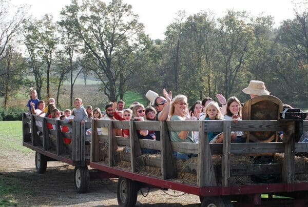
MULTIPOLYGON (((251 80, 248 87, 242 90, 244 93, 254 98, 260 95, 269 95, 270 92, 266 89, 264 82, 259 80, 251 80)), ((219 103, 214 101, 211 97, 205 97, 202 101, 197 100, 189 109, 187 103, 187 97, 185 95, 177 95, 172 98, 172 92, 169 93, 164 89, 163 95, 159 96, 156 92, 148 91, 146 97, 150 100, 149 106, 144 107, 139 102, 133 102, 131 106, 125 108, 125 102, 120 100, 118 102, 108 102, 105 106, 105 114, 101 112, 99 108, 92 109, 91 106, 83 107, 82 100, 75 98, 75 108, 72 112, 67 109, 60 111, 56 109, 54 105, 54 99, 50 98, 48 101, 48 107, 45 108, 44 101, 37 99, 36 91, 30 89, 30 100, 27 106, 29 107, 29 113, 37 116, 46 116, 49 118, 62 119, 64 122, 77 122, 84 123, 91 121, 91 119, 104 119, 104 120, 233 120, 237 123, 242 119, 242 105, 240 100, 235 97, 229 97, 227 100, 222 94, 217 94, 216 98, 219 103)), ((36 123, 37 125, 38 123, 36 123)), ((42 123, 41 123, 42 125, 42 123)), ((54 126, 49 125, 48 129, 54 129, 54 126)), ((101 129, 98 133, 108 133, 107 129, 101 129)), ((91 129, 87 131, 87 134, 91 134, 91 129)), ((129 138, 128 129, 115 130, 117 136, 123 136, 129 138)), ((160 140, 160 131, 139 130, 137 131, 138 138, 160 140)), ((176 142, 199 142, 199 132, 193 131, 171 131, 170 140, 176 142)), ((209 143, 222 143, 222 132, 208 132, 207 138, 209 143)), ((232 142, 245 142, 245 136, 243 132, 232 132, 232 142)), ((308 134, 304 132, 301 140, 308 140, 308 134), (307 136, 307 137, 305 137, 307 136)), ((157 153, 156 150, 143 149, 143 153, 157 153)), ((190 155, 183 153, 175 153, 176 157, 180 159, 186 159, 190 155)))

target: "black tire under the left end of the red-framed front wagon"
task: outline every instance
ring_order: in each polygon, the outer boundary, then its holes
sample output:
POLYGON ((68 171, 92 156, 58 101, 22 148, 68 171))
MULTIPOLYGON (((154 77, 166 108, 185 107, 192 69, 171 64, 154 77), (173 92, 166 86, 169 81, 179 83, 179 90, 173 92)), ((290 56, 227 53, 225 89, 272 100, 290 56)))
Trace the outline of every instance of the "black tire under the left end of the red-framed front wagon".
POLYGON ((136 205, 138 184, 130 179, 119 177, 117 198, 119 206, 132 207, 136 205))

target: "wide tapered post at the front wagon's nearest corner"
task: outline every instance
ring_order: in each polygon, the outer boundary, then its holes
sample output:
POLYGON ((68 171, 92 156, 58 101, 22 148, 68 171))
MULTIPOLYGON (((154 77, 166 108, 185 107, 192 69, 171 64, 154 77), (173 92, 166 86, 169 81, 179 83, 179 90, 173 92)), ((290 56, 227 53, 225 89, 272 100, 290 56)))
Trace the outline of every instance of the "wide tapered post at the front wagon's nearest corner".
POLYGON ((217 185, 205 124, 206 121, 200 121, 197 168, 197 184, 200 188, 217 185))

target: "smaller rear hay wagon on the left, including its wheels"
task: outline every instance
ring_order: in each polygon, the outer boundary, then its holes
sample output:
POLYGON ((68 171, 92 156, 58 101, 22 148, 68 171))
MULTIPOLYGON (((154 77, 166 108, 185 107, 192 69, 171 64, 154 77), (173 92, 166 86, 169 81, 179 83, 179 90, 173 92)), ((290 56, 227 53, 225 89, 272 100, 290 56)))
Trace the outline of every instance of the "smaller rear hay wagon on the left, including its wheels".
POLYGON ((45 173, 48 161, 62 161, 71 164, 74 169, 76 191, 85 193, 89 187, 91 137, 85 135, 91 123, 85 125, 73 122, 63 123, 45 117, 23 114, 23 146, 35 151, 35 168, 37 173, 45 173), (47 125, 54 129, 48 129, 47 125), (61 132, 61 127, 67 127, 69 132, 61 132), (65 141, 64 141, 65 139, 65 141), (66 142, 66 143, 65 143, 66 142))

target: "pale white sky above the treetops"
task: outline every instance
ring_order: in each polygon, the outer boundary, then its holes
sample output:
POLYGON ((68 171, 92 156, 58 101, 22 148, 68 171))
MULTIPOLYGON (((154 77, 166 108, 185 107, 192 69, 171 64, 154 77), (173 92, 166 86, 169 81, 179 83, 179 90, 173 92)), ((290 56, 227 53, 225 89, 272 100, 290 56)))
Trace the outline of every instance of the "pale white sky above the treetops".
MULTIPOLYGON (((15 5, 32 5, 28 13, 40 18, 46 13, 59 20, 61 9, 70 4, 70 0, 11 0, 15 5)), ((106 3, 109 1, 105 1, 106 3)), ((166 27, 174 22, 176 13, 185 10, 187 15, 196 14, 202 10, 210 10, 216 17, 222 17, 227 9, 245 10, 252 16, 263 13, 274 16, 275 26, 282 20, 293 18, 293 1, 291 0, 123 0, 130 4, 139 20, 145 26, 145 32, 152 39, 164 39, 166 27)))

